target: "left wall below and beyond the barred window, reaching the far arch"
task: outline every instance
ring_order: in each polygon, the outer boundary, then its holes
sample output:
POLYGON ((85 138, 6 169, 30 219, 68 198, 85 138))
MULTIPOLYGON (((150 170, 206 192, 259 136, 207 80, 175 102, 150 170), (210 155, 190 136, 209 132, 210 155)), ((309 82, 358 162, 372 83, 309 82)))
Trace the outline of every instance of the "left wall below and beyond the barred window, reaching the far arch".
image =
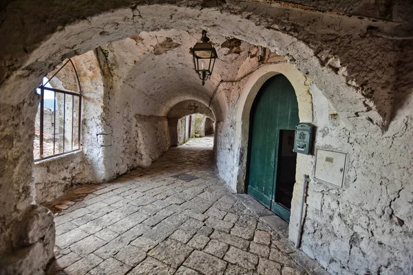
POLYGON ((170 147, 167 118, 139 115, 109 100, 121 91, 100 50, 73 61, 83 89, 83 146, 80 152, 34 164, 37 203, 55 199, 76 184, 108 181, 149 166, 170 147))

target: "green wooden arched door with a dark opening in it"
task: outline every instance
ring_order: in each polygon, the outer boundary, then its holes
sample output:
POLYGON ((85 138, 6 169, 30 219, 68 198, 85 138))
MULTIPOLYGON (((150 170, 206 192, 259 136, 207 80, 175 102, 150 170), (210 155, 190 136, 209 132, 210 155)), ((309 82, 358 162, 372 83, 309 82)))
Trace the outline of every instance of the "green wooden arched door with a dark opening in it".
POLYGON ((289 210, 275 201, 280 133, 295 129, 298 122, 291 83, 282 74, 268 79, 251 108, 247 192, 287 221, 289 210))

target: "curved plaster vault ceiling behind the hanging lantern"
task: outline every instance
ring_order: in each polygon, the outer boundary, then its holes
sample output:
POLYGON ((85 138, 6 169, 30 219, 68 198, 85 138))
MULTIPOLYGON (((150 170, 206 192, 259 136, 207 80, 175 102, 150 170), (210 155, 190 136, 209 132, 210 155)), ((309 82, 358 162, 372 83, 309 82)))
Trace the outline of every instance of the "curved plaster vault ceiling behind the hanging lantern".
MULTIPOLYGON (((201 30, 160 30, 100 47, 98 50, 103 52, 114 75, 114 87, 121 91, 114 99, 129 102, 131 109, 142 115, 167 115, 171 107, 183 100, 198 100, 209 106, 221 81, 235 80, 243 70, 257 66, 256 53, 262 47, 210 35, 218 59, 211 79, 202 86, 190 51, 200 36, 201 30)), ((225 102, 220 105, 214 110, 218 117, 222 116, 225 102)))

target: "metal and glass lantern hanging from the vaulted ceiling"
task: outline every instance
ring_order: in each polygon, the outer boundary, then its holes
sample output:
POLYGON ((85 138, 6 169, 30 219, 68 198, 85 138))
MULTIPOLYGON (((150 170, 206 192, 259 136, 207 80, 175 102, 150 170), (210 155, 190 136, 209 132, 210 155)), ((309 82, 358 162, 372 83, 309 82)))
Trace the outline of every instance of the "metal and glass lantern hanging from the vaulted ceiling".
POLYGON ((213 71, 215 65, 215 58, 217 58, 217 51, 207 37, 207 31, 202 30, 202 38, 200 42, 196 43, 192 48, 193 66, 195 72, 202 80, 202 86, 205 84, 213 71))

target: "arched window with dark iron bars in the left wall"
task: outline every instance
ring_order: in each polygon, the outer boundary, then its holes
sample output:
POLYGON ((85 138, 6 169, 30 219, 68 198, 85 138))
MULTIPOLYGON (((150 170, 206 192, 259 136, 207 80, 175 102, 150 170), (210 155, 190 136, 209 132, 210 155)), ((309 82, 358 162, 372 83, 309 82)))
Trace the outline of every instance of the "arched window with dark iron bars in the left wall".
POLYGON ((72 60, 47 74, 36 93, 34 160, 80 150, 82 89, 72 60))

